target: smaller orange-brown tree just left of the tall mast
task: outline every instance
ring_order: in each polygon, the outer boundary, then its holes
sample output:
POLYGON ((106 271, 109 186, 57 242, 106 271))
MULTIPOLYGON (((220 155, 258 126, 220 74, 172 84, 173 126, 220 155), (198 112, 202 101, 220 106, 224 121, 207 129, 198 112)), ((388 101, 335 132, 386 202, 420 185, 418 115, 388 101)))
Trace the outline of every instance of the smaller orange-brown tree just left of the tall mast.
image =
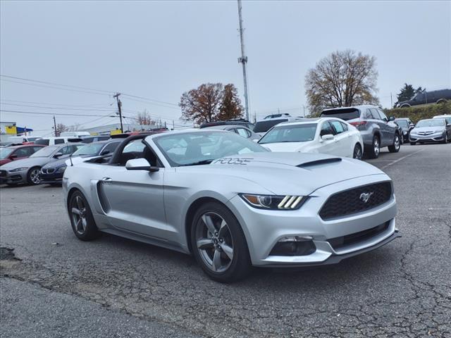
POLYGON ((201 84, 197 89, 183 93, 178 104, 182 108, 182 120, 199 124, 214 121, 219 113, 222 97, 221 83, 201 84))

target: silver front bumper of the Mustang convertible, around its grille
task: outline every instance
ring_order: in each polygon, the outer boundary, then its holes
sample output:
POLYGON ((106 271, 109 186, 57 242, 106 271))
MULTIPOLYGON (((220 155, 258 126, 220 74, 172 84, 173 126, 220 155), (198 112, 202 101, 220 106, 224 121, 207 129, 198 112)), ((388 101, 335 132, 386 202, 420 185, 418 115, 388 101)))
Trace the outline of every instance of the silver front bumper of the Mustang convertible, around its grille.
POLYGON ((394 195, 384 204, 360 213, 331 220, 323 220, 319 216, 321 207, 332 194, 383 180, 390 179, 386 175, 371 175, 331 184, 316 190, 296 211, 252 208, 240 196, 230 199, 228 205, 237 215, 245 232, 253 265, 295 267, 338 263, 344 258, 376 249, 400 237, 395 227, 394 195), (384 225, 381 231, 371 233, 371 229, 381 225, 384 225), (342 246, 333 244, 332 239, 352 237, 362 232, 369 232, 371 235, 342 246), (271 250, 278 241, 290 236, 311 237, 316 250, 305 256, 271 255, 271 250))

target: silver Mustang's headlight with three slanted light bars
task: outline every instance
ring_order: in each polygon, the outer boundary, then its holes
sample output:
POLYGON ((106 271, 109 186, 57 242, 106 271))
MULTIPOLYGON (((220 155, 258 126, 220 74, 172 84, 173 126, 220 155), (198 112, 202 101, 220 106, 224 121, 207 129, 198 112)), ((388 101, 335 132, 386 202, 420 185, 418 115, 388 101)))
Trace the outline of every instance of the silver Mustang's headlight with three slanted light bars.
POLYGON ((247 204, 259 209, 295 210, 299 209, 306 199, 305 196, 277 196, 240 194, 247 204))

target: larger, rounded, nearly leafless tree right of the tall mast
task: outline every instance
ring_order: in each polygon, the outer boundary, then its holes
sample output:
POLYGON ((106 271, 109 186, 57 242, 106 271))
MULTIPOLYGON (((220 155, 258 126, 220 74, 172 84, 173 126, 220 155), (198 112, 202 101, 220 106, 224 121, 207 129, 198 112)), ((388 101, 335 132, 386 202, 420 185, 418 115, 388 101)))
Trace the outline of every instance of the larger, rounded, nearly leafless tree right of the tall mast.
POLYGON ((376 58, 355 51, 336 51, 308 71, 305 87, 310 111, 378 104, 376 58))

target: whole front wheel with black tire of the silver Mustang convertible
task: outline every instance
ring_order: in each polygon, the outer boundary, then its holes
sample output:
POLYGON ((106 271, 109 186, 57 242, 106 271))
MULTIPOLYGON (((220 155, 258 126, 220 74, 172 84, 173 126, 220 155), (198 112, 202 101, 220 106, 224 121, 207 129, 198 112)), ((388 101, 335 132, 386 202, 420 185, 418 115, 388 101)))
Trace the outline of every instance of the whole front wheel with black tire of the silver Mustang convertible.
POLYGON ((250 270, 245 234, 233 213, 216 202, 201 206, 191 227, 191 246, 204 273, 217 282, 235 282, 250 270))

